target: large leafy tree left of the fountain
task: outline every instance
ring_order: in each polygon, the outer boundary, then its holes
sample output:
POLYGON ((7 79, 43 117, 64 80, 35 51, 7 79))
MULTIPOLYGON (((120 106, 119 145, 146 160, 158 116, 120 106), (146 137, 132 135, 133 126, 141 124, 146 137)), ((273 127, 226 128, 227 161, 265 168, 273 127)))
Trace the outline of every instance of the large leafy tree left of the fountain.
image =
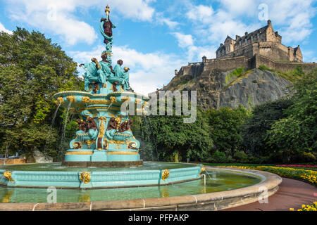
POLYGON ((19 27, 13 34, 0 33, 1 141, 13 153, 32 155, 35 148, 44 150, 45 144, 53 143, 51 149, 56 149, 58 129, 50 127, 56 110, 52 96, 83 89, 76 68, 77 63, 44 34, 19 27))

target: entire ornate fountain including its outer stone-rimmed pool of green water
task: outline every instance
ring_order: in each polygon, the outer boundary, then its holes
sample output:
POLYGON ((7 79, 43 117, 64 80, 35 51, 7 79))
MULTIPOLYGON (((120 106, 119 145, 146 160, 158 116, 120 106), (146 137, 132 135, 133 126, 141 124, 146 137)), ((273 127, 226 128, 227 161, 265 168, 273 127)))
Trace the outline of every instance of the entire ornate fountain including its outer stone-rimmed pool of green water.
POLYGON ((202 165, 139 158, 129 115, 144 114, 149 98, 130 89, 123 60, 112 67, 109 13, 100 23, 102 60, 80 65, 85 91, 54 95, 58 108, 80 116, 63 162, 0 167, 0 210, 219 210, 256 201, 263 187, 275 193, 281 179, 268 172, 209 168, 211 178, 202 165), (52 187, 58 203, 44 203, 52 187))

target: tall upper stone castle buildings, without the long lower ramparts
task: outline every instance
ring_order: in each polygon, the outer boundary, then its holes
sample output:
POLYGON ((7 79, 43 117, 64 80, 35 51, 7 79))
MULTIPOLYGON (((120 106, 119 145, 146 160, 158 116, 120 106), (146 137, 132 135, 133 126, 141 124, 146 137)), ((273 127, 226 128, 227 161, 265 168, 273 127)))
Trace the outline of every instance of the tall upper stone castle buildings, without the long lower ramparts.
POLYGON ((245 32, 243 37, 238 35, 235 39, 227 37, 224 44, 216 51, 216 58, 232 58, 247 56, 249 58, 259 54, 276 61, 302 62, 303 56, 299 46, 292 48, 282 43, 282 36, 274 32, 271 20, 268 25, 259 30, 245 32))

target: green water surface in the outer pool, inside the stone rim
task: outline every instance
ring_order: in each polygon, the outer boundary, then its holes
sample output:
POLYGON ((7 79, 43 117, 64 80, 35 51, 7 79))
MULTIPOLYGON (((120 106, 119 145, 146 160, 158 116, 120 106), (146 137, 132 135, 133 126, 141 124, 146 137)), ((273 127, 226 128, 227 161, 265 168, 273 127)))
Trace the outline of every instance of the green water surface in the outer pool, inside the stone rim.
MULTIPOLYGON (((56 190, 57 203, 90 202, 106 200, 132 200, 140 198, 163 198, 183 195, 198 195, 229 191, 257 184, 261 178, 249 174, 208 170, 206 186, 204 180, 188 181, 168 186, 133 188, 106 188, 93 190, 56 190)), ((0 188, 1 203, 46 203, 46 188, 0 188)))

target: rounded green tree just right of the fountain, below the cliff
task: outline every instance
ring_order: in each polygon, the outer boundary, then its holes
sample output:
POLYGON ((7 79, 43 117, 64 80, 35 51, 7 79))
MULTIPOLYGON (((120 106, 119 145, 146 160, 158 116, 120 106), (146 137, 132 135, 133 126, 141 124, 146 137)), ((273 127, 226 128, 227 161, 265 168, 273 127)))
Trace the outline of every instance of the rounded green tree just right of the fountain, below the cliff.
MULTIPOLYGON (((146 145, 147 158, 158 155, 159 160, 204 160, 212 147, 209 126, 200 109, 197 120, 184 123, 185 116, 148 116, 143 117, 142 130, 146 145), (150 149, 151 148, 151 149, 150 149)), ((156 159, 156 157, 154 157, 156 159)))

